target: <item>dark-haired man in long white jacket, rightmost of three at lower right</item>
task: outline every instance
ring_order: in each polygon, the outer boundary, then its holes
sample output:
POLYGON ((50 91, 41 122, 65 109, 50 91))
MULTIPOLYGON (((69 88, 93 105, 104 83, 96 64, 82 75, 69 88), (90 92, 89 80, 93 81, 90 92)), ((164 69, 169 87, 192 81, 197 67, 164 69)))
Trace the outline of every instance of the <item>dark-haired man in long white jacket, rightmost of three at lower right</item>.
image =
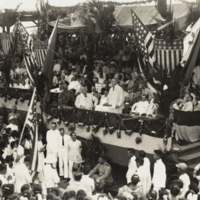
MULTIPOLYGON (((159 191, 162 188, 166 187, 166 167, 164 163, 161 160, 162 158, 162 151, 155 150, 154 151, 154 170, 153 170, 153 178, 152 178, 152 184, 154 187, 154 190, 159 194, 159 191)), ((159 198, 159 195, 158 197, 159 198)))

